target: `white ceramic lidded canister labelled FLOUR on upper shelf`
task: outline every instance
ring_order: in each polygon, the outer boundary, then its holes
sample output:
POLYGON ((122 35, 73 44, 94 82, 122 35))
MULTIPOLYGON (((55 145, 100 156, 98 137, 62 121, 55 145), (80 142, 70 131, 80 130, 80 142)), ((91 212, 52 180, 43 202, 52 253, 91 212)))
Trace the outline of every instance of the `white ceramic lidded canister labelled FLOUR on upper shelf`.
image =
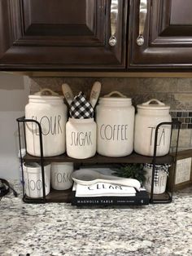
MULTIPOLYGON (((25 118, 34 119, 41 124, 44 157, 54 157, 65 152, 65 125, 67 106, 63 96, 50 89, 43 89, 36 95, 28 96, 29 103, 25 107, 25 118), (51 95, 42 95, 48 91, 51 95)), ((40 157, 39 129, 36 123, 27 122, 27 152, 40 157)))

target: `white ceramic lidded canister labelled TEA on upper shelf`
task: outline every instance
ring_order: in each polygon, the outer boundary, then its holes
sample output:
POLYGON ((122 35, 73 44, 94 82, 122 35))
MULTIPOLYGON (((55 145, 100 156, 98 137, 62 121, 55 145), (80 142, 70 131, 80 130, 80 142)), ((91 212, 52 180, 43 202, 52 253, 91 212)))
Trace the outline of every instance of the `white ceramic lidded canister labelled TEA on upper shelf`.
MULTIPOLYGON (((146 103, 137 105, 134 130, 134 151, 144 156, 154 155, 155 128, 161 122, 170 122, 170 107, 158 99, 151 99, 146 103), (151 104, 155 102, 155 104, 151 104)), ((169 152, 171 139, 171 126, 160 126, 157 137, 156 156, 161 157, 169 152)))

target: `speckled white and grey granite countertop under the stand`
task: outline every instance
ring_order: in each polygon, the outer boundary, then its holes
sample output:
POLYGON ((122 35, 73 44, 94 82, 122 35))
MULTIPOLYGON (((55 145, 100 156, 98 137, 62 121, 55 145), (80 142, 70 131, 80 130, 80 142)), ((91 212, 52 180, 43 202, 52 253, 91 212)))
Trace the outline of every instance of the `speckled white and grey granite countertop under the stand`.
MULTIPOLYGON (((18 188, 17 188, 18 191, 18 188)), ((192 187, 170 204, 76 208, 0 201, 0 255, 192 255, 192 187)))

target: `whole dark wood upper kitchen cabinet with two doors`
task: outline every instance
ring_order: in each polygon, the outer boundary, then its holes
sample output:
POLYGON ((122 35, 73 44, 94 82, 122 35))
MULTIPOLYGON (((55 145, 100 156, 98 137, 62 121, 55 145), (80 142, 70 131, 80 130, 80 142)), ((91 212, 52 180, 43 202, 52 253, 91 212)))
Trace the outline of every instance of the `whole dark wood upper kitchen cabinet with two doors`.
POLYGON ((191 0, 0 0, 0 70, 190 71, 191 10, 191 0))

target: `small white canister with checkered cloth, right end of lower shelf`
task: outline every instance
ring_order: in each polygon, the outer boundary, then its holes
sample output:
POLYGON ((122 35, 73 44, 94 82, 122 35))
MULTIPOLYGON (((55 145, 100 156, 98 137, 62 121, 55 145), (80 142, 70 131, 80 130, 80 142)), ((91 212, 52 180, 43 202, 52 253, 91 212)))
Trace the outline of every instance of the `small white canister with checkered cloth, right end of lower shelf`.
MULTIPOLYGON (((146 164, 143 167, 143 170, 146 172, 144 187, 146 188, 146 192, 151 193, 151 183, 152 183, 152 170, 153 165, 146 164)), ((155 165, 155 180, 154 180, 154 194, 163 194, 166 190, 168 179, 168 165, 155 165)))

